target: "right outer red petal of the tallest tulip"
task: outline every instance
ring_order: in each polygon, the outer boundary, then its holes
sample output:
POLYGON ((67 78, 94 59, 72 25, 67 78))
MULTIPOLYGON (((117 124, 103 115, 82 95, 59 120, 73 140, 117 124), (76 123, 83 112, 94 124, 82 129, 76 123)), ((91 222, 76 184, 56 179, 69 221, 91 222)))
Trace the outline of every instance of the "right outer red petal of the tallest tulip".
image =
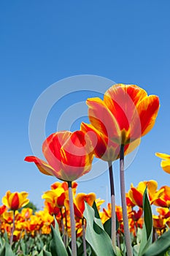
POLYGON ((150 132, 155 124, 159 110, 159 98, 155 95, 145 97, 142 102, 139 102, 137 109, 141 121, 142 136, 144 136, 150 132))

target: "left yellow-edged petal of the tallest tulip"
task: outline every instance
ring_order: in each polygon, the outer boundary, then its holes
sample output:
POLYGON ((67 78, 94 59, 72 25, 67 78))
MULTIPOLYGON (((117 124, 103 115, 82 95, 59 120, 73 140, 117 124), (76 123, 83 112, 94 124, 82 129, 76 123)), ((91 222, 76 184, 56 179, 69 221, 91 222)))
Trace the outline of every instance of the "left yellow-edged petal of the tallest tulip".
POLYGON ((115 116, 112 115, 104 101, 99 98, 91 98, 86 103, 89 107, 88 116, 93 127, 98 129, 98 132, 101 132, 101 134, 120 144, 121 133, 119 124, 117 124, 115 116))

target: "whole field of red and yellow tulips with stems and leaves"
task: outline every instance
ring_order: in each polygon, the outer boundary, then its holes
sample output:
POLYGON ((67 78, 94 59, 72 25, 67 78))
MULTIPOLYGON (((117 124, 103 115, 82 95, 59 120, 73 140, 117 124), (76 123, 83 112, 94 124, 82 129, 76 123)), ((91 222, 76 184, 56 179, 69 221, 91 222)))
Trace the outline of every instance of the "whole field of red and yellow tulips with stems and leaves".
MULTIPOLYGON (((39 171, 60 181, 42 195, 43 211, 28 208, 28 192, 10 192, 0 207, 0 256, 152 256, 170 253, 170 187, 141 181, 125 191, 125 155, 152 127, 159 98, 135 85, 115 84, 104 99, 87 99, 90 124, 75 132, 58 131, 42 143, 46 162, 35 156, 39 171), (93 171, 93 158, 108 163, 110 203, 77 193, 77 178, 93 171), (112 162, 120 161, 121 206, 115 205, 112 162), (92 170, 91 170, 92 169, 92 170), (157 214, 152 214, 152 206, 157 214)), ((170 156, 156 153, 170 173, 170 156)), ((168 174, 167 174, 168 175, 168 174)))

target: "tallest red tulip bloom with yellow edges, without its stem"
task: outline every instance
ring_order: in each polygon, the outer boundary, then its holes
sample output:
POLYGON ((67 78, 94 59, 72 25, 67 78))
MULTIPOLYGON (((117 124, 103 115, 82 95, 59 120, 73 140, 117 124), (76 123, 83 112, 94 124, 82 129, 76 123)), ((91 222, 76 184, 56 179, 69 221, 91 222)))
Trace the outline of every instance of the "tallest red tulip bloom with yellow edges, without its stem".
POLYGON ((139 86, 118 83, 105 92, 104 100, 91 98, 87 105, 90 123, 104 140, 109 138, 118 145, 126 145, 152 129, 159 99, 148 96, 139 86))

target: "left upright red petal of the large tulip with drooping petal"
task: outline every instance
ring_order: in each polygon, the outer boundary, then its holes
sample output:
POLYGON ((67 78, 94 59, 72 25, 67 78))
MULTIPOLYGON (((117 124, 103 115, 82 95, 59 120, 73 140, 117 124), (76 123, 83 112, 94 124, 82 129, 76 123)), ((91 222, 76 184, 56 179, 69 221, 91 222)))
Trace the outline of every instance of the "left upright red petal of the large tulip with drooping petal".
POLYGON ((72 135, 72 132, 55 132, 42 145, 42 152, 54 170, 61 170, 61 146, 72 135))

